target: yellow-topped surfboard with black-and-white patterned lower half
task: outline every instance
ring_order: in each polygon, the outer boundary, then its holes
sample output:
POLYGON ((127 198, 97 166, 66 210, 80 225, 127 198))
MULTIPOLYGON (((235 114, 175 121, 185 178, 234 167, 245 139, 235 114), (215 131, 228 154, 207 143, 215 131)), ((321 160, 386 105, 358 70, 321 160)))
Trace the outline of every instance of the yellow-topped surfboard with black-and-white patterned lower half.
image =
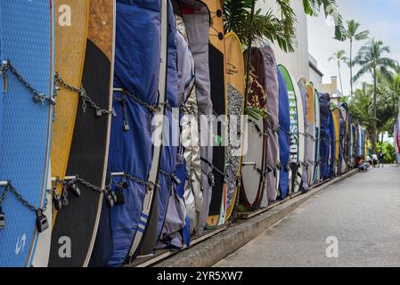
MULTIPOLYGON (((229 116, 235 115, 235 116, 241 116, 243 114, 244 110, 244 93, 245 93, 245 71, 244 71, 244 58, 243 58, 243 51, 241 49, 241 40, 239 37, 231 32, 228 33, 225 36, 225 58, 226 58, 226 69, 225 69, 225 77, 226 77, 226 83, 228 85, 228 112, 229 116), (233 88, 232 88, 233 87, 233 88), (232 89, 231 89, 232 88, 232 89), (233 94, 230 94, 230 91, 233 91, 233 94), (236 93, 237 92, 237 93, 236 93), (241 98, 237 98, 238 94, 240 94, 241 98), (232 100, 230 100, 230 96, 232 96, 232 100), (241 110, 238 110, 235 108, 237 104, 239 104, 238 101, 241 101, 241 110), (231 105, 233 104, 233 111, 231 112, 231 105), (233 113, 233 112, 237 113, 233 113), (240 112, 240 113, 239 113, 240 112)), ((240 123, 241 118, 237 118, 238 123, 240 123)), ((240 131, 240 129, 238 129, 240 131)), ((240 137, 240 134, 238 134, 240 137)), ((231 139, 233 140, 233 138, 231 139)), ((233 142, 234 144, 234 142, 233 142)), ((228 147, 228 151, 233 151, 228 147)), ((240 177, 241 174, 241 146, 240 149, 238 150, 240 153, 229 153, 228 152, 228 157, 230 155, 239 155, 239 156, 231 156, 228 158, 228 161, 226 163, 227 167, 233 167, 234 170, 236 170, 236 174, 230 174, 230 180, 232 180, 232 183, 227 183, 225 185, 226 187, 226 193, 227 193, 227 201, 226 201, 226 216, 225 220, 228 221, 230 217, 232 216, 233 213, 233 208, 235 206, 236 202, 236 197, 238 195, 239 187, 237 186, 237 177, 240 177), (236 166, 237 164, 237 166, 236 166), (233 177, 234 176, 234 177, 233 177), (231 186, 236 184, 235 187, 231 186)))

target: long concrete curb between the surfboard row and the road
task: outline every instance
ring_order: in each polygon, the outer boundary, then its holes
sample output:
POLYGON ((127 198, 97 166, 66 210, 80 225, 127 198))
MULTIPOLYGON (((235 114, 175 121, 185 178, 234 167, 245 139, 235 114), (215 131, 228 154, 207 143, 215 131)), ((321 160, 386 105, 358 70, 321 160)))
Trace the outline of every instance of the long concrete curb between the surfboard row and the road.
POLYGON ((175 256, 159 262, 155 267, 209 267, 215 265, 224 257, 229 256, 237 249, 243 247, 249 241, 254 240, 262 232, 278 223, 285 216, 288 216, 295 209, 312 199, 315 194, 358 173, 357 169, 347 172, 332 179, 327 183, 317 186, 310 191, 289 199, 285 203, 255 216, 240 224, 234 225, 228 230, 218 233, 212 238, 200 244, 183 250, 175 256))

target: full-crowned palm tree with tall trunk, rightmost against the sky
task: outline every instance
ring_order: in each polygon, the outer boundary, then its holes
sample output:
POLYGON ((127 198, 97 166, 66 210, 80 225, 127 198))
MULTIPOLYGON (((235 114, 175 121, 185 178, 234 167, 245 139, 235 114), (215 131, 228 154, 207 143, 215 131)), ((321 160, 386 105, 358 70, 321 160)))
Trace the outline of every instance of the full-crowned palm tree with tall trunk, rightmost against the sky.
POLYGON ((384 57, 385 53, 390 53, 390 48, 383 44, 382 41, 371 39, 358 52, 355 57, 355 65, 359 65, 361 69, 353 77, 353 82, 357 81, 365 74, 370 74, 373 79, 373 130, 372 130, 372 151, 376 152, 377 142, 377 96, 378 96, 378 77, 392 77, 390 69, 396 69, 398 63, 388 57, 384 57))

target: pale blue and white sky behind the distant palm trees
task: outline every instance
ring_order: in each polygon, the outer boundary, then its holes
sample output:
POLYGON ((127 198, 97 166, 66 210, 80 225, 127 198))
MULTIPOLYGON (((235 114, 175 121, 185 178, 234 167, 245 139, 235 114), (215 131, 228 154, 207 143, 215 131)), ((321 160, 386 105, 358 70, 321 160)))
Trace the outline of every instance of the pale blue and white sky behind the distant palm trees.
MULTIPOLYGON (((388 57, 400 61, 400 1, 399 0, 337 0, 339 13, 344 20, 356 20, 361 23, 360 31, 369 29, 370 37, 375 37, 390 46, 388 57)), ((349 42, 339 42, 334 37, 332 20, 326 20, 324 15, 308 17, 308 50, 318 61, 318 68, 324 74, 323 83, 331 82, 332 76, 338 76, 336 61, 328 61, 338 50, 345 50, 349 56, 349 42)), ((357 42, 353 53, 357 53, 365 42, 357 42)), ((355 72, 358 68, 355 68, 355 72)), ((347 65, 342 65, 343 89, 350 93, 350 71, 347 65)), ((370 77, 363 77, 370 81, 370 77)), ((355 85, 355 87, 357 86, 355 85)))

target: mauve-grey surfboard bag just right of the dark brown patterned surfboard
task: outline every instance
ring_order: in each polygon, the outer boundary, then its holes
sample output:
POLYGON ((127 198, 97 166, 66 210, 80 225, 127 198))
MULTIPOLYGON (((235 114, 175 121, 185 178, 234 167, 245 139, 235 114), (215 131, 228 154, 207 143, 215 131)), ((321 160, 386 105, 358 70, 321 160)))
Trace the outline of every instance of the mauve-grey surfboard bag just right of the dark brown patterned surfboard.
POLYGON ((278 193, 277 179, 279 177, 279 90, 278 76, 276 73, 276 57, 270 45, 265 45, 261 52, 264 53, 266 108, 269 113, 267 120, 266 142, 266 175, 265 191, 268 201, 275 201, 278 193))

